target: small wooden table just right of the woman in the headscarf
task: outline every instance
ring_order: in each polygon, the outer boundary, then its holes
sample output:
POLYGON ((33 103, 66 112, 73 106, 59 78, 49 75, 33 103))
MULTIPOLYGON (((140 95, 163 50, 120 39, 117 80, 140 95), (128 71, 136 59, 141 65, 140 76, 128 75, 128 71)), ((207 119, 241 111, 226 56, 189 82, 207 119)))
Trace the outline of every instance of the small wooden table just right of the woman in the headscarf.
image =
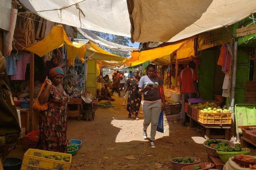
POLYGON ((80 120, 80 114, 82 113, 82 98, 70 98, 67 106, 68 117, 77 117, 80 120), (71 105, 76 105, 76 110, 70 110, 71 105))

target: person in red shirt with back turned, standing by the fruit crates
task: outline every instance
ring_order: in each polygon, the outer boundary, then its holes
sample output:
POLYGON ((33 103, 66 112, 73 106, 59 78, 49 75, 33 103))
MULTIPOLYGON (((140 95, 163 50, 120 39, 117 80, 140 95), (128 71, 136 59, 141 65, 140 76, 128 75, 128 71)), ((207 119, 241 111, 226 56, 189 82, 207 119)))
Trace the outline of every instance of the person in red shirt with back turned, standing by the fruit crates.
POLYGON ((185 102, 188 102, 189 98, 199 97, 198 84, 197 84, 197 72, 195 71, 196 64, 193 61, 188 63, 188 67, 180 72, 180 94, 181 94, 181 125, 186 126, 186 114, 185 114, 185 102))

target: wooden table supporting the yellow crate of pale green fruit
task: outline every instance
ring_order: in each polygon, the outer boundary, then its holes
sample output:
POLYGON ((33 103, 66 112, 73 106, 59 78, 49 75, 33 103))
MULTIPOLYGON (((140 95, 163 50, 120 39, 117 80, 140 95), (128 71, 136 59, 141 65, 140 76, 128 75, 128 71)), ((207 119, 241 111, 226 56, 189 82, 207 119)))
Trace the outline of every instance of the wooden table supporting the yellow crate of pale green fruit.
MULTIPOLYGON (((188 114, 187 114, 188 115, 188 114)), ((231 128, 230 124, 203 124, 201 122, 198 122, 195 120, 193 117, 188 115, 190 118, 190 126, 191 128, 194 128, 195 122, 198 123, 199 125, 203 126, 206 128, 206 140, 208 139, 226 139, 229 140, 229 129, 231 128), (210 133, 211 129, 224 129, 225 130, 225 135, 213 135, 210 133)))

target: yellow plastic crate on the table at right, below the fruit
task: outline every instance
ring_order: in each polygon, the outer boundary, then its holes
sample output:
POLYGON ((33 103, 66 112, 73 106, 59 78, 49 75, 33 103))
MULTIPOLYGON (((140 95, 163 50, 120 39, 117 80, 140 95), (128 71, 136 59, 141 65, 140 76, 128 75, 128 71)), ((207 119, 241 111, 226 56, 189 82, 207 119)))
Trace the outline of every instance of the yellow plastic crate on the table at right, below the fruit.
POLYGON ((231 124, 231 113, 199 112, 198 121, 203 124, 231 124))

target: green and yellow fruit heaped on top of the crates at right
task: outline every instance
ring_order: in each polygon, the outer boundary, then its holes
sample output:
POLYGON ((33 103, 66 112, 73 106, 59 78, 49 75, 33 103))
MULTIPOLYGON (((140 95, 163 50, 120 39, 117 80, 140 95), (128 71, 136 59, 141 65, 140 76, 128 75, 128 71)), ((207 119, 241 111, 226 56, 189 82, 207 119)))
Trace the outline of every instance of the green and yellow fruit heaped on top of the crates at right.
POLYGON ((200 110, 200 112, 203 112, 203 113, 229 113, 228 109, 222 110, 221 107, 215 104, 214 102, 209 103, 208 101, 206 101, 205 103, 198 103, 198 104, 188 103, 188 106, 198 109, 200 110))

